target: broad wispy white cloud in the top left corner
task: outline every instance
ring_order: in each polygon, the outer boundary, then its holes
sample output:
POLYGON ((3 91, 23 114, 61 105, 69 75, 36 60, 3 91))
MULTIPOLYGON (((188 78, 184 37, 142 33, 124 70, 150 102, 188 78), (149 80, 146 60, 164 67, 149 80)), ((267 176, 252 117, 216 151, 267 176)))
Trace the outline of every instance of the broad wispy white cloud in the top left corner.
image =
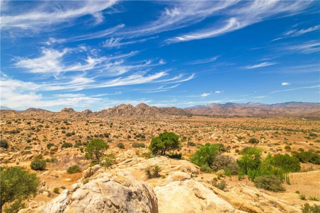
MULTIPOLYGON (((53 5, 39 1, 37 6, 26 9, 27 6, 16 8, 16 13, 6 14, 2 11, 1 28, 6 30, 19 29, 38 32, 51 30, 52 25, 73 21, 77 17, 91 14, 95 23, 103 20, 100 11, 112 7, 116 0, 109 1, 58 1, 53 5)), ((8 6, 8 5, 7 5, 8 6)))

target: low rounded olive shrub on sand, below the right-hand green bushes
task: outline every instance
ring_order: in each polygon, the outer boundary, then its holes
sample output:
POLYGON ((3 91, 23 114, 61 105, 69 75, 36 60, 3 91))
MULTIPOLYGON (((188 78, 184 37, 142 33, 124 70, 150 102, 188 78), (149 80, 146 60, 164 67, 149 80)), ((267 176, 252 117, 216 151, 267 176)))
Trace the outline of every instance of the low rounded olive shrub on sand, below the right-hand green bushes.
POLYGON ((273 192, 283 192, 285 188, 282 186, 282 181, 279 177, 274 175, 262 175, 254 179, 254 186, 256 188, 269 190, 273 192))

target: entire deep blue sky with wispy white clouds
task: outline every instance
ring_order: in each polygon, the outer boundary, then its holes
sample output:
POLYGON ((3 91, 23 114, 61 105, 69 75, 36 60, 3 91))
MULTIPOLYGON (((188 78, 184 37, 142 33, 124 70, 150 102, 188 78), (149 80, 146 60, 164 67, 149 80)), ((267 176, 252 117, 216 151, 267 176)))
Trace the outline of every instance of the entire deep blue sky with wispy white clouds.
POLYGON ((1 105, 320 102, 320 1, 0 1, 1 105))

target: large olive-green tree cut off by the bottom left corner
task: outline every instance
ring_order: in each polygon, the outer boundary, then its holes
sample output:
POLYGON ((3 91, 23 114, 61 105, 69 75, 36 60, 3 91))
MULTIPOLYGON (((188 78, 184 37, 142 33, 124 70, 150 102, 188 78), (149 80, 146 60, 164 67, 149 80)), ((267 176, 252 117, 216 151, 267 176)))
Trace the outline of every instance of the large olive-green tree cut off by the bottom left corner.
POLYGON ((22 167, 0 167, 0 177, 1 208, 10 204, 5 212, 16 213, 23 209, 23 201, 35 197, 40 184, 35 174, 22 167))

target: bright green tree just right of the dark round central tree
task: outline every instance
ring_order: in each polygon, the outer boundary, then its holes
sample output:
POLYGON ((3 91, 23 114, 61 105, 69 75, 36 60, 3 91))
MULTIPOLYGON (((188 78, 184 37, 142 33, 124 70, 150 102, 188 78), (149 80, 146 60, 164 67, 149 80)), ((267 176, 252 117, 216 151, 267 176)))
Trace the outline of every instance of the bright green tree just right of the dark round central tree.
POLYGON ((199 167, 211 165, 215 156, 218 154, 219 146, 216 144, 206 143, 191 157, 191 162, 199 167))

